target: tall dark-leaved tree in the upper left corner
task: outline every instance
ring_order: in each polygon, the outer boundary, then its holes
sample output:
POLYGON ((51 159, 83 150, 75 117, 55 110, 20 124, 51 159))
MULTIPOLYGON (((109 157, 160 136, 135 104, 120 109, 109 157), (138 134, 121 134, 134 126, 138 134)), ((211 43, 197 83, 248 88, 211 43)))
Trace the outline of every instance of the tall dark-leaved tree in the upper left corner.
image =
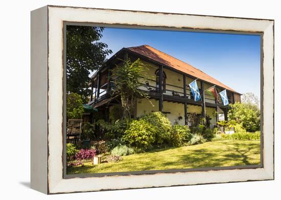
POLYGON ((66 27, 66 91, 81 95, 87 103, 91 71, 99 69, 112 53, 100 41, 103 27, 67 25, 66 27))

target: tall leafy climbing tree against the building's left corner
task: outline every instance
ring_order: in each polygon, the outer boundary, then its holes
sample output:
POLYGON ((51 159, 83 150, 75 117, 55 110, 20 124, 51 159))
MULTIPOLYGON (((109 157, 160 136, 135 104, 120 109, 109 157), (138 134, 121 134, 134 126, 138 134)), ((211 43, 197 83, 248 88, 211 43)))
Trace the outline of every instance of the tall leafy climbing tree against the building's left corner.
POLYGON ((114 95, 121 96, 122 119, 131 118, 130 111, 136 98, 148 97, 145 92, 139 90, 139 87, 143 84, 140 80, 145 76, 144 64, 139 59, 131 62, 128 55, 126 55, 123 65, 116 65, 112 70, 114 95))

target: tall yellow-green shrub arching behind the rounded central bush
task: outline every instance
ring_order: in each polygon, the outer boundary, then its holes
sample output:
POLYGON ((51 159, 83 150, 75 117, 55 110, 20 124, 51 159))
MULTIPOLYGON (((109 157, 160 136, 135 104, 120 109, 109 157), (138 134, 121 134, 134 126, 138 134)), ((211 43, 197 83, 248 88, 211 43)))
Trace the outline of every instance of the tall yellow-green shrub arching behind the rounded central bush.
POLYGON ((169 119, 161 112, 151 112, 140 119, 151 124, 155 129, 155 143, 169 144, 172 125, 169 119))

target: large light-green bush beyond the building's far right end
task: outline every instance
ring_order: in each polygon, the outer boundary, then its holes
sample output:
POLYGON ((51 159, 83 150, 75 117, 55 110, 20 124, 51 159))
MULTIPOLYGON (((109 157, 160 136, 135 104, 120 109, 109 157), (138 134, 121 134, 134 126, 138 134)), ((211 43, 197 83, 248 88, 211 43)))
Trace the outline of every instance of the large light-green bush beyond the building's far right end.
POLYGON ((228 119, 235 120, 241 124, 248 132, 260 130, 261 125, 261 111, 251 103, 229 104, 228 119))

